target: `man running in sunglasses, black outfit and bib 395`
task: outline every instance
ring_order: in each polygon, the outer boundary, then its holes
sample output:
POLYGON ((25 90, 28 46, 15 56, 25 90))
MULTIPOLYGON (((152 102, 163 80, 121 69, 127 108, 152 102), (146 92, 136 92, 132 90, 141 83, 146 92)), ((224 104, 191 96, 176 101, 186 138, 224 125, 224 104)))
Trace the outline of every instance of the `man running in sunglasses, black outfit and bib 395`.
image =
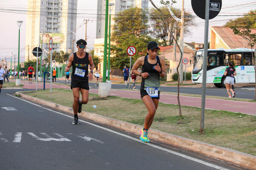
POLYGON ((78 40, 76 42, 76 47, 78 51, 74 54, 71 54, 69 61, 65 68, 65 71, 70 71, 72 66, 71 74, 71 89, 73 90, 74 102, 73 102, 73 111, 74 111, 74 121, 73 124, 78 124, 77 113, 81 113, 82 104, 86 104, 89 99, 89 84, 88 80, 93 79, 93 57, 84 51, 85 45, 87 42, 85 40, 78 40), (90 65, 90 73, 88 74, 88 65, 90 65), (79 99, 79 91, 82 95, 82 100, 79 99))

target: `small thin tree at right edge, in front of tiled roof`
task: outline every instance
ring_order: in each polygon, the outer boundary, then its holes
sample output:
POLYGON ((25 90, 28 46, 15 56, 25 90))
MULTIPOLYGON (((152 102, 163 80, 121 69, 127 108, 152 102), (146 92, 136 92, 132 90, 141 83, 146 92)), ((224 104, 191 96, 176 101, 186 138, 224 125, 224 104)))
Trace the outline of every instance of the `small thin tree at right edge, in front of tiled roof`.
MULTIPOLYGON (((251 28, 253 27, 253 22, 246 21, 244 22, 244 27, 239 28, 238 26, 231 26, 231 29, 233 30, 234 34, 240 35, 244 39, 248 41, 248 45, 250 46, 252 50, 252 56, 253 56, 253 48, 256 50, 256 34, 253 34, 251 32, 251 28)), ((255 73, 255 80, 256 80, 256 56, 253 56, 253 66, 254 66, 254 73, 255 73)), ((255 100, 256 100, 256 82, 255 82, 255 100)))

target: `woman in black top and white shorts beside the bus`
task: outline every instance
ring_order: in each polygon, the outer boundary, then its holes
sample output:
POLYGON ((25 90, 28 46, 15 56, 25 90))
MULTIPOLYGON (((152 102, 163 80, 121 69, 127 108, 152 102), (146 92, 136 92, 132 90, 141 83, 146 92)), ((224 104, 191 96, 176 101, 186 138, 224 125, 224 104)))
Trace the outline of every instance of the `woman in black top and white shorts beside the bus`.
POLYGON ((224 76, 226 76, 226 89, 227 89, 227 94, 228 97, 235 97, 236 93, 235 91, 233 91, 232 89, 232 85, 234 85, 235 83, 235 77, 236 76, 236 69, 234 68, 233 62, 229 61, 227 63, 228 68, 226 68, 225 72, 224 72, 224 76), (232 96, 230 94, 230 92, 232 93, 232 96))

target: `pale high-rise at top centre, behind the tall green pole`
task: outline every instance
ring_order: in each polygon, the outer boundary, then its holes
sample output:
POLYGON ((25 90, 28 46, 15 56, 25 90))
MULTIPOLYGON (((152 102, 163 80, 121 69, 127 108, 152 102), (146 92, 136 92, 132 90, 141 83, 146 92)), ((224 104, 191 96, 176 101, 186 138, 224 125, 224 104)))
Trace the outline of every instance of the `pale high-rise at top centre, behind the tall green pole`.
MULTIPOLYGON (((130 7, 148 8, 148 0, 109 0, 109 3, 115 4, 111 11, 111 18, 114 17, 114 14, 130 7)), ((103 38, 105 34, 105 8, 106 0, 98 0, 96 38, 103 38)), ((113 24, 114 22, 111 20, 111 26, 113 24)))

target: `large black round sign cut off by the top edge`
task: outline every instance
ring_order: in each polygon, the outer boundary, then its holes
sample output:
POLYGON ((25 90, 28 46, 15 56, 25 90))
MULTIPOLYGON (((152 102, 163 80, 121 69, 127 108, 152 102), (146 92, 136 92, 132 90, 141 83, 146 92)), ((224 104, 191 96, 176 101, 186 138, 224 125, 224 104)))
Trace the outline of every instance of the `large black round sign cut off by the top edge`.
MULTIPOLYGON (((195 14, 205 19, 205 2, 206 0, 191 0, 191 5, 195 14)), ((209 20, 215 18, 221 11, 221 0, 210 0, 209 20)))

